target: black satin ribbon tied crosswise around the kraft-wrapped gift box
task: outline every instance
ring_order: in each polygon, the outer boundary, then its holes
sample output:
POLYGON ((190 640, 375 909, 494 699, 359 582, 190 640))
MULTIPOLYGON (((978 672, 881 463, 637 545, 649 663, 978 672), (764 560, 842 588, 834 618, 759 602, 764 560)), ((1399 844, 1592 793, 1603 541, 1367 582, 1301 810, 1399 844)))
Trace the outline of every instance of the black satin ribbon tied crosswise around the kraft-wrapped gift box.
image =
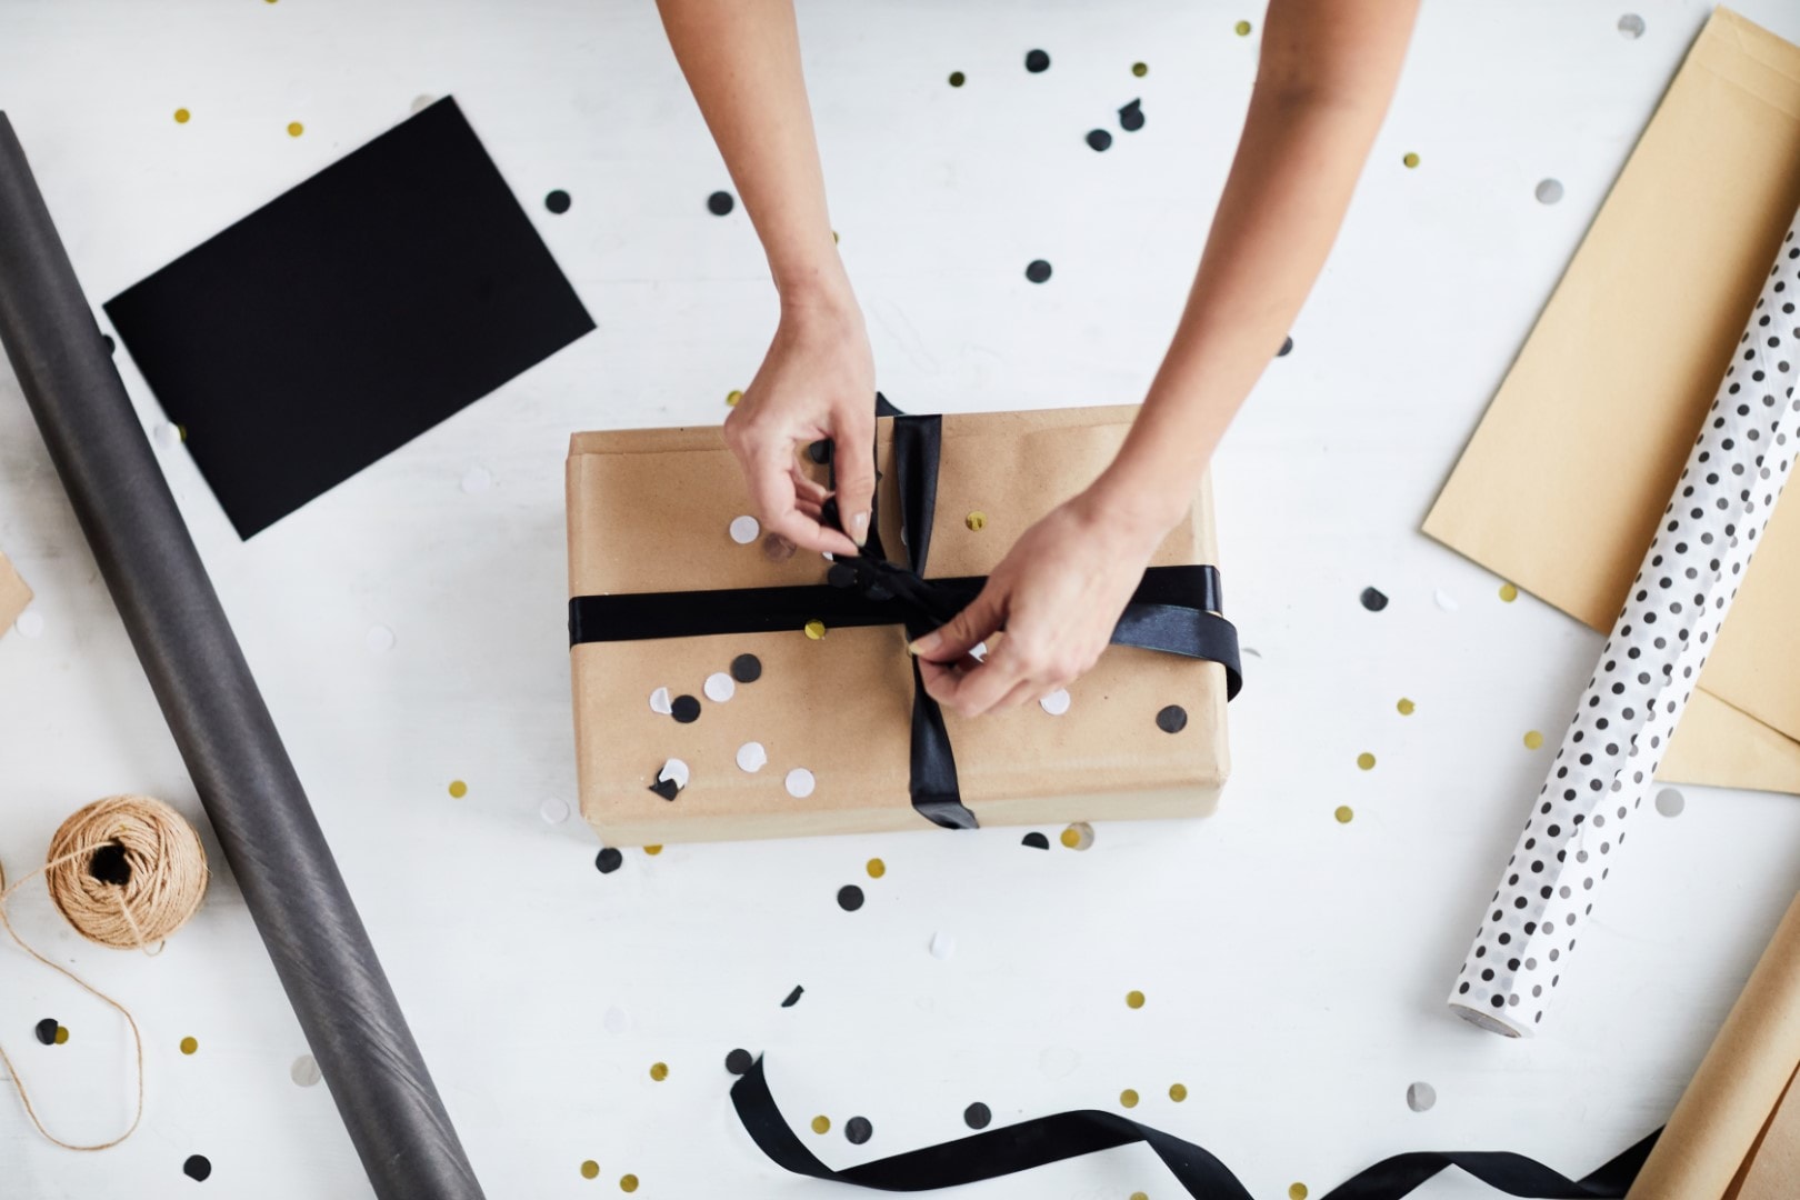
MULTIPOLYGON (((839 558, 828 583, 576 596, 569 601, 569 644, 765 633, 799 630, 808 621, 826 626, 900 624, 911 642, 954 617, 976 599, 986 576, 923 578, 938 504, 943 417, 904 416, 882 396, 877 398, 877 414, 895 419, 893 462, 905 563, 887 561, 877 533, 878 520, 871 513, 864 552, 839 558)), ((828 520, 835 522, 835 507, 828 520)), ((1220 615, 1222 610, 1217 567, 1150 567, 1125 604, 1112 642, 1219 662, 1226 669, 1229 700, 1244 685, 1244 675, 1237 628, 1220 615)), ((922 817, 947 829, 976 828, 976 815, 963 804, 956 781, 956 756, 943 712, 925 693, 916 658, 911 772, 913 808, 922 817)))

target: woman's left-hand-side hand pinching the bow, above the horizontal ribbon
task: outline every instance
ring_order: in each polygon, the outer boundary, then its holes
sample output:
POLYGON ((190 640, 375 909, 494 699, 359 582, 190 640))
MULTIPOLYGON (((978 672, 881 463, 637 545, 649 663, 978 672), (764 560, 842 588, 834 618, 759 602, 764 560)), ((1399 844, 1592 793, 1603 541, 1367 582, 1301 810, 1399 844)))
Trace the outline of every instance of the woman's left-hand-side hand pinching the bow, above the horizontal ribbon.
POLYGON ((875 497, 875 356, 848 284, 841 295, 781 302, 781 324, 756 378, 725 417, 763 527, 797 547, 855 554, 868 540, 875 497), (796 448, 835 444, 842 533, 819 522, 830 498, 799 470, 796 448), (851 545, 855 540, 855 545, 851 545))

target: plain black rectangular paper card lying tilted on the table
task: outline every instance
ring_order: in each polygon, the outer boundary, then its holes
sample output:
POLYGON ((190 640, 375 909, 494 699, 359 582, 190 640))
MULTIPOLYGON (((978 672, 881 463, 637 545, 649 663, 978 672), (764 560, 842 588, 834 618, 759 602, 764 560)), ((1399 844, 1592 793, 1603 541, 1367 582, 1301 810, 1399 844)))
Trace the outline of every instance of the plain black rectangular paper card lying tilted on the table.
POLYGON ((452 99, 106 315, 243 538, 594 327, 452 99))

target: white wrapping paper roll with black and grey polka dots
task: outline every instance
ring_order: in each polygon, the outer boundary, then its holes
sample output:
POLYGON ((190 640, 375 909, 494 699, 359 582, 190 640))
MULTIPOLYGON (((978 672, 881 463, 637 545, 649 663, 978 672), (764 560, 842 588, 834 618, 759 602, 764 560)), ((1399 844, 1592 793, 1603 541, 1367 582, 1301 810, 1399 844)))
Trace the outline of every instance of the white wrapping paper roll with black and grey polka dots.
POLYGON ((1541 1027, 1787 482, 1796 304, 1789 227, 1451 990, 1451 1007, 1483 1029, 1541 1027))

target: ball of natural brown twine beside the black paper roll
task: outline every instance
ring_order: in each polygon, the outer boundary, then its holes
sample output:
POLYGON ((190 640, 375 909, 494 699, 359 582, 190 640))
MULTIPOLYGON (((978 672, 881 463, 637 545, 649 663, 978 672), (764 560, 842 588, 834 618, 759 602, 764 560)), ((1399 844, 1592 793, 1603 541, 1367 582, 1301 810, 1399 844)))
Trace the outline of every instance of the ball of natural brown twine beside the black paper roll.
POLYGON ((187 820, 148 795, 76 810, 50 838, 43 871, 56 909, 88 941, 148 950, 200 909, 207 851, 187 820))

